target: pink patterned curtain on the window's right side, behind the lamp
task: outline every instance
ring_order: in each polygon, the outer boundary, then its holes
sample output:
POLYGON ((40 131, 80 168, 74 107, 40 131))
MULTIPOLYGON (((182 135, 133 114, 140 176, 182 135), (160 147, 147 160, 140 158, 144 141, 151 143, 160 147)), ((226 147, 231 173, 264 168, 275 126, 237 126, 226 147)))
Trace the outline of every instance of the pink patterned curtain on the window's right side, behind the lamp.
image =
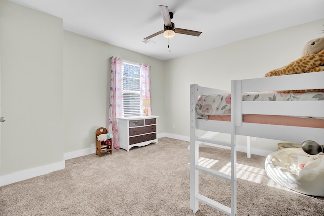
POLYGON ((141 103, 143 99, 148 99, 150 106, 148 108, 148 115, 151 115, 151 79, 150 79, 150 70, 151 66, 149 64, 140 64, 140 73, 141 73, 141 103))

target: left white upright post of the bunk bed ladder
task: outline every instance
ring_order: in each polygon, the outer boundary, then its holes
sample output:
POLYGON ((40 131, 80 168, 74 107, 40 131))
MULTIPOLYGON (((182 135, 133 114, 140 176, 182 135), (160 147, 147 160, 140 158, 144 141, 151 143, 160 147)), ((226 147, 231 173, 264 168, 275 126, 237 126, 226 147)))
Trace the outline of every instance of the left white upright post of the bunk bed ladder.
POLYGON ((199 159, 199 145, 196 145, 197 114, 195 112, 197 84, 190 85, 190 208, 196 213, 199 208, 196 195, 199 193, 199 171, 195 169, 199 159))

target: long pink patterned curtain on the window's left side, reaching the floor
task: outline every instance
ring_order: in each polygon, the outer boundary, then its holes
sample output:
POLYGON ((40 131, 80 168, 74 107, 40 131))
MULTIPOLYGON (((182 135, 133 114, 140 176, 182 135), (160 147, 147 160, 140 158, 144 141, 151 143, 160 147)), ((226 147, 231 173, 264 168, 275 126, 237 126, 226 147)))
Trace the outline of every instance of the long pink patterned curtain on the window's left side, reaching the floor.
POLYGON ((122 113, 123 95, 121 94, 121 66, 123 61, 111 57, 111 80, 110 80, 110 99, 109 99, 109 125, 108 131, 112 132, 112 146, 119 149, 119 137, 117 128, 117 118, 122 113))

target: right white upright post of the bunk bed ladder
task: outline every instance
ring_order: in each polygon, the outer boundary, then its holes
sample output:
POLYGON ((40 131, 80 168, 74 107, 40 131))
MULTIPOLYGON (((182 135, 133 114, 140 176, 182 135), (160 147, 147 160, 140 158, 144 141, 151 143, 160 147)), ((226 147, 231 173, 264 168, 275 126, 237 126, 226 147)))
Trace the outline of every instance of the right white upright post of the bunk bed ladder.
MULTIPOLYGON (((237 82, 239 83, 239 82, 237 82)), ((235 125, 235 110, 236 106, 236 98, 239 98, 240 94, 236 94, 239 90, 240 83, 238 87, 236 86, 236 81, 232 80, 232 89, 231 89, 231 215, 237 215, 237 189, 236 189, 236 125, 235 125)))

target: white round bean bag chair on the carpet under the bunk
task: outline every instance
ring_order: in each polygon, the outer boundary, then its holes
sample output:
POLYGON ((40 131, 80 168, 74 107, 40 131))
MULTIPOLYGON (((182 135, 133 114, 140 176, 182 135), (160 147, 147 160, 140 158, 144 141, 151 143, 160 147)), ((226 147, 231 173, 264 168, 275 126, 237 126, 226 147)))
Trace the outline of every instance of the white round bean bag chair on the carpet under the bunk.
POLYGON ((324 197, 324 154, 284 148, 266 157, 265 171, 279 185, 302 194, 324 197))

